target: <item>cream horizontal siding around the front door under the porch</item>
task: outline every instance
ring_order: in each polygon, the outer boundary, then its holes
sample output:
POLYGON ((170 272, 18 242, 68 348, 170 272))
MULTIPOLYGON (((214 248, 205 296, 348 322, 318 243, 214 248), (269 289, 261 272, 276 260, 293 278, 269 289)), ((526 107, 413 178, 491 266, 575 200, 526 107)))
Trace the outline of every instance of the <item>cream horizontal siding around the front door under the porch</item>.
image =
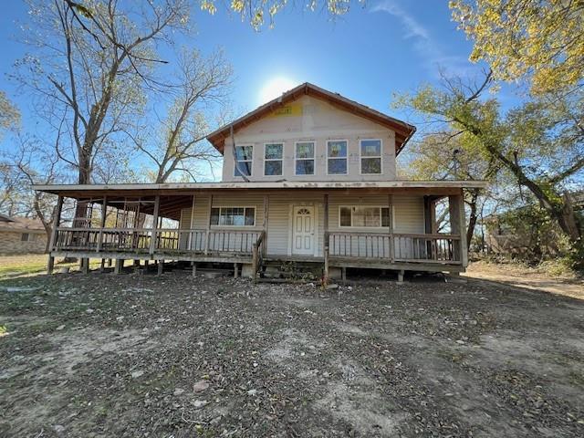
MULTIPOLYGON (((316 254, 322 256, 324 238, 324 192, 297 191, 294 193, 278 193, 269 195, 269 214, 267 227, 267 254, 290 255, 291 242, 291 211, 293 205, 314 205, 317 220, 316 254)), ((346 231, 355 233, 380 233, 387 234, 388 228, 359 228, 339 227, 339 206, 364 205, 386 206, 388 196, 382 195, 346 195, 339 193, 328 194, 328 231, 346 231)), ((193 228, 206 229, 209 218, 209 195, 195 196, 193 228)), ((213 206, 254 206, 254 227, 224 227, 212 226, 214 229, 233 229, 261 231, 264 221, 264 195, 240 193, 236 195, 215 194, 213 206)), ((181 214, 181 229, 189 229, 192 225, 191 209, 183 209, 181 214)), ((424 233, 424 215, 422 196, 393 196, 393 230, 394 233, 424 233)), ((184 245, 184 244, 183 244, 184 245)))

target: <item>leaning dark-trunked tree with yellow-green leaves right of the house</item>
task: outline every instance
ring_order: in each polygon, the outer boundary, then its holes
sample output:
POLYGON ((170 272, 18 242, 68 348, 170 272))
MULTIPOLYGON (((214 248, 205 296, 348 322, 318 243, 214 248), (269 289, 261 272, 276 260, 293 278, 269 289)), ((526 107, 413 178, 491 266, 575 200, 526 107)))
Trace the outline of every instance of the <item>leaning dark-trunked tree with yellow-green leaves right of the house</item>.
POLYGON ((489 73, 473 87, 450 82, 444 89, 426 86, 397 104, 422 112, 477 146, 477 160, 494 161, 537 199, 572 245, 575 261, 584 264, 579 216, 568 188, 584 177, 584 90, 528 101, 503 114, 489 73))

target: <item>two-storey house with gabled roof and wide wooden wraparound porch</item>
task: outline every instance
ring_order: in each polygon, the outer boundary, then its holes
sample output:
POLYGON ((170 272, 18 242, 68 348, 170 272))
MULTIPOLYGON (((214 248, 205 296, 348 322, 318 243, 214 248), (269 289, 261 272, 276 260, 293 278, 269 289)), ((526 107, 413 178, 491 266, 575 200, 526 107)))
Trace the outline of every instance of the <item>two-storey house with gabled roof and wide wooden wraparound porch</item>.
POLYGON ((325 278, 347 267, 464 271, 463 189, 485 183, 397 180, 414 131, 302 84, 207 137, 224 155, 221 183, 37 186, 59 195, 58 210, 78 201, 74 226, 52 236, 49 266, 70 255, 116 259, 116 271, 123 259, 230 263, 254 277, 282 262, 317 264, 325 278), (447 235, 433 219, 443 198, 447 235))

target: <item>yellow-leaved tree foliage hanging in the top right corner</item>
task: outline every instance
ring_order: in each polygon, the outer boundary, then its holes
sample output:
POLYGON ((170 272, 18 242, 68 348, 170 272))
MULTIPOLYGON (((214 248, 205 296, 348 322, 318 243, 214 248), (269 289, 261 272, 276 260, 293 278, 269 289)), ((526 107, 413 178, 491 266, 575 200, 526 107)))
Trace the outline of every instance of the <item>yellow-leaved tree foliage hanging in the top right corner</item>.
POLYGON ((583 85, 581 0, 454 0, 454 20, 474 41, 471 60, 495 78, 527 79, 535 94, 583 85))

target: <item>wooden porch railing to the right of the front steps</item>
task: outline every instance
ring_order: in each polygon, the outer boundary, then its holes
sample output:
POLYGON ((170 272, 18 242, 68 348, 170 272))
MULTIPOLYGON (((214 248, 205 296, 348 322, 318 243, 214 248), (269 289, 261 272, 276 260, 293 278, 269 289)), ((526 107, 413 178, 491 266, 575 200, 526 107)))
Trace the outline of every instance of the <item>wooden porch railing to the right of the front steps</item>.
POLYGON ((460 236, 329 232, 328 256, 460 264, 460 236))

